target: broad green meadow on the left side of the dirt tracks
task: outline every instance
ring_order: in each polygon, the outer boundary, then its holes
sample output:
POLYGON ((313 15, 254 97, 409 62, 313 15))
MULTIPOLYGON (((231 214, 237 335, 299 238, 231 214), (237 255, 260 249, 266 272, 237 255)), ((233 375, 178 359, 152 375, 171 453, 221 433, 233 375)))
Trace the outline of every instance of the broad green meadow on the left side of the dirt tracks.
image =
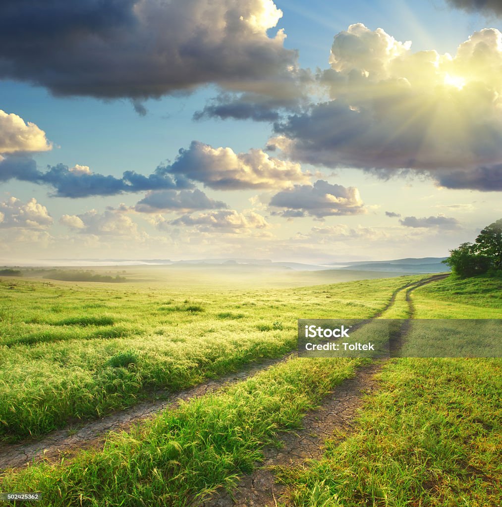
POLYGON ((369 317, 417 279, 188 293, 0 281, 0 440, 38 437, 131 406, 153 389, 176 391, 279 357, 295 347, 297 318, 369 317), (133 368, 113 366, 129 353, 133 368))

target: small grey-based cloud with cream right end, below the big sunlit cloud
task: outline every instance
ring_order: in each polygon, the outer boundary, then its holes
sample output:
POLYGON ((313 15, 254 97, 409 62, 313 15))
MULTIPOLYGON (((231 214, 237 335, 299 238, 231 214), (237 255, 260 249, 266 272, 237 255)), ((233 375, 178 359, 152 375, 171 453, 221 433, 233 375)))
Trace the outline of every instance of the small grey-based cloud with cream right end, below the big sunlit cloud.
POLYGON ((295 185, 272 197, 270 206, 287 208, 275 214, 295 216, 356 215, 365 213, 359 191, 355 187, 331 185, 319 179, 314 185, 295 185))

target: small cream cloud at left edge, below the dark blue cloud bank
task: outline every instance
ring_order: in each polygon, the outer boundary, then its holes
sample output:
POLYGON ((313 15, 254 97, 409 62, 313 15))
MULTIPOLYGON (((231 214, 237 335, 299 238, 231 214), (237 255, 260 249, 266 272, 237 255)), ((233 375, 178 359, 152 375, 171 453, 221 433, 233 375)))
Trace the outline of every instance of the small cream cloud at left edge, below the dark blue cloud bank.
POLYGON ((52 222, 47 208, 34 197, 26 204, 15 197, 0 203, 0 228, 47 229, 52 222))

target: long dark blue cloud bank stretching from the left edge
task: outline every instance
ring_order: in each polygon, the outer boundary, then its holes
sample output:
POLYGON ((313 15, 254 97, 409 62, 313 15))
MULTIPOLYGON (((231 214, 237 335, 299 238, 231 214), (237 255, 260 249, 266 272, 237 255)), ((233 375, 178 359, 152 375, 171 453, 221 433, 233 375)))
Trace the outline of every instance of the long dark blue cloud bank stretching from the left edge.
POLYGON ((134 171, 125 171, 121 178, 95 174, 90 171, 81 172, 75 169, 57 164, 42 172, 37 169, 37 164, 31 158, 9 156, 0 160, 0 182, 18 179, 38 185, 49 185, 55 189, 54 196, 70 198, 193 188, 193 185, 182 176, 173 179, 170 174, 166 173, 164 166, 158 167, 153 174, 148 176, 134 171))

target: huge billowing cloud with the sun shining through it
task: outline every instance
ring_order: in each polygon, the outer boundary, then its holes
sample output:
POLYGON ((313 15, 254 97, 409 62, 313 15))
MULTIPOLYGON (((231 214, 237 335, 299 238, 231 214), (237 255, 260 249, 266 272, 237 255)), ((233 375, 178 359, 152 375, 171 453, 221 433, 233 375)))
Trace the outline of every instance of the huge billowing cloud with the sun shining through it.
POLYGON ((320 82, 330 100, 274 125, 270 144, 288 158, 384 178, 411 170, 448 188, 487 190, 495 182, 502 189, 499 30, 475 32, 452 57, 413 53, 410 42, 380 28, 351 25, 334 38, 320 82), (459 168, 465 175, 454 173, 459 168))

